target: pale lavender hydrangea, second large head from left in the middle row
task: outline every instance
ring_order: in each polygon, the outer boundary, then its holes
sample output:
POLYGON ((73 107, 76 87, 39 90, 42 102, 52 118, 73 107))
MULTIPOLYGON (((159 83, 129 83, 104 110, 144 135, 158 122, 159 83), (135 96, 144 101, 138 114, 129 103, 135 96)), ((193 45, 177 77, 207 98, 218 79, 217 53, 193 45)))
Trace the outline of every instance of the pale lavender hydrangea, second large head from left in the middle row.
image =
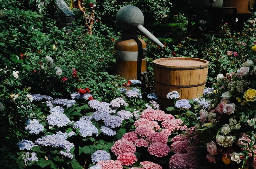
POLYGON ((63 127, 66 126, 71 121, 68 119, 67 115, 64 113, 64 109, 62 107, 56 106, 50 109, 50 115, 47 116, 47 121, 50 125, 63 127))

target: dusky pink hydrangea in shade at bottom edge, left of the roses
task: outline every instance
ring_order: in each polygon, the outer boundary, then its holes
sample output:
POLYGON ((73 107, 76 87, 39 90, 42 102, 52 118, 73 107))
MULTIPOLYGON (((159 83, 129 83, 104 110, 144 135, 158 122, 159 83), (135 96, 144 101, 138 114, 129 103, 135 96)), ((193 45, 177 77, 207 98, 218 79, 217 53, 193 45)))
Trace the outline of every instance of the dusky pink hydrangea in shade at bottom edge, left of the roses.
POLYGON ((169 160, 169 168, 189 169, 188 153, 176 153, 169 160))

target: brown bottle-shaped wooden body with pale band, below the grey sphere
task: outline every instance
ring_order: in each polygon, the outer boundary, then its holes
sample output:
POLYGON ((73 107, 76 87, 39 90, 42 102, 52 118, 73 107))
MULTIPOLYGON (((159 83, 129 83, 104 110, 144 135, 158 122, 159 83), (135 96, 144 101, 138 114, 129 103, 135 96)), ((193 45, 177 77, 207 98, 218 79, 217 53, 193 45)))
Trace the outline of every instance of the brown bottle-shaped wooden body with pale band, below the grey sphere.
POLYGON ((119 74, 127 80, 137 79, 137 72, 146 75, 146 50, 143 51, 143 49, 146 49, 146 43, 144 40, 140 38, 120 38, 116 41, 114 49, 116 52, 116 74, 119 74), (138 49, 140 53, 138 53, 138 49), (138 54, 142 55, 141 60, 138 60, 138 54), (138 71, 138 67, 140 71, 138 71))

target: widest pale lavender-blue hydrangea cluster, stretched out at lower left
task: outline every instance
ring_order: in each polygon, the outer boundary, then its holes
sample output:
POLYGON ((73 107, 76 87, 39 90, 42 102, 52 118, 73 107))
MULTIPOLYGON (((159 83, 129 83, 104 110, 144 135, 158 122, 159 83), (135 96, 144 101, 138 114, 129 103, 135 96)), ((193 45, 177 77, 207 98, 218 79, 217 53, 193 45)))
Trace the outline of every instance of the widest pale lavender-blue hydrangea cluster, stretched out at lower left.
POLYGON ((64 139, 60 134, 46 135, 38 138, 35 143, 44 146, 61 147, 66 149, 66 152, 70 152, 71 148, 74 147, 73 143, 64 139))

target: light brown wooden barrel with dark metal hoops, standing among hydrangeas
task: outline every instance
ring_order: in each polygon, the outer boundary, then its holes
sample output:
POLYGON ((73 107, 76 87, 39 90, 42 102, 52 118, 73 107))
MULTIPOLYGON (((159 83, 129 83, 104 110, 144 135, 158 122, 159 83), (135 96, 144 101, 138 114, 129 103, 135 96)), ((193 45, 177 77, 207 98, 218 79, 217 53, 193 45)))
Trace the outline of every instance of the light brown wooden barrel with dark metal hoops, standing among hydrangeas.
POLYGON ((179 99, 194 99, 203 94, 209 62, 197 58, 161 58, 153 62, 154 83, 161 108, 173 106, 166 95, 178 91, 179 99))

